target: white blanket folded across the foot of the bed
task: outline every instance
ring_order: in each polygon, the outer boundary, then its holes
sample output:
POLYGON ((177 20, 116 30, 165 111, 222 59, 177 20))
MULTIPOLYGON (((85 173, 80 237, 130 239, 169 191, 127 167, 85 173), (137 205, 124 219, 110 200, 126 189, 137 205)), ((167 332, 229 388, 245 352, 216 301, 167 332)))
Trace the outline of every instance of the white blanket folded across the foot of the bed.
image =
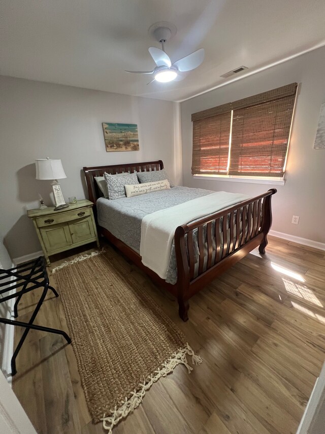
POLYGON ((158 276, 166 279, 177 226, 214 214, 247 199, 249 196, 246 194, 218 191, 146 215, 141 223, 140 255, 142 263, 158 276))

